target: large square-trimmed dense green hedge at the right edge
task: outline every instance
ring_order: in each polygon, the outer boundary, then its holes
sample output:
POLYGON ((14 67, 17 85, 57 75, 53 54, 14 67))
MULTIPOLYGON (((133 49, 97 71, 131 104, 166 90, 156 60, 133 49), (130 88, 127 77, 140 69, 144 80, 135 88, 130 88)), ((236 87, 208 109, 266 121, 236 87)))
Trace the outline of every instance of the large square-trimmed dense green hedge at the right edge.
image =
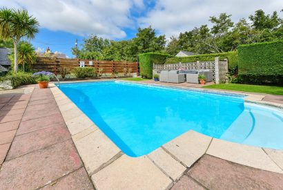
POLYGON ((244 83, 283 84, 283 41, 242 45, 238 53, 244 83))

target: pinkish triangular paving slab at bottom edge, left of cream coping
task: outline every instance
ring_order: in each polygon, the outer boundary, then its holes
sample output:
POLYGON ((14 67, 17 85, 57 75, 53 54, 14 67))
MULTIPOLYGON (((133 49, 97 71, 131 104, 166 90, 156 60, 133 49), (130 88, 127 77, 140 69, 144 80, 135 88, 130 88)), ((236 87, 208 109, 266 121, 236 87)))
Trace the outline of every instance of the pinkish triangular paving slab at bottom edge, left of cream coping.
POLYGON ((94 189, 84 167, 52 182, 42 189, 94 189))

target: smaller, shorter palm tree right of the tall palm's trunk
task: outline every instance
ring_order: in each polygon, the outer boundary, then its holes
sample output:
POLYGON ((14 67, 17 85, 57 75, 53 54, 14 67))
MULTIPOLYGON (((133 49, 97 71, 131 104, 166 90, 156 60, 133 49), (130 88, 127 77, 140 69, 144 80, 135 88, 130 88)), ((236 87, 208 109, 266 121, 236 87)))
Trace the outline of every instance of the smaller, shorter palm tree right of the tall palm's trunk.
POLYGON ((23 66, 23 72, 25 71, 25 64, 32 64, 35 61, 35 48, 32 44, 21 41, 18 46, 18 64, 23 66))

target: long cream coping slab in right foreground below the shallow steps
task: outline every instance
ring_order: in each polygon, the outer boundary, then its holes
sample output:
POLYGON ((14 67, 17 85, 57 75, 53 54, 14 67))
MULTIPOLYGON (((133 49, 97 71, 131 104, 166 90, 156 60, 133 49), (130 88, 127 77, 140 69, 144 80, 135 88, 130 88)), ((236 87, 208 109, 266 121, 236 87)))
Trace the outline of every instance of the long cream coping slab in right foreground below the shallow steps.
POLYGON ((213 139, 206 153, 248 167, 283 173, 259 147, 213 139))

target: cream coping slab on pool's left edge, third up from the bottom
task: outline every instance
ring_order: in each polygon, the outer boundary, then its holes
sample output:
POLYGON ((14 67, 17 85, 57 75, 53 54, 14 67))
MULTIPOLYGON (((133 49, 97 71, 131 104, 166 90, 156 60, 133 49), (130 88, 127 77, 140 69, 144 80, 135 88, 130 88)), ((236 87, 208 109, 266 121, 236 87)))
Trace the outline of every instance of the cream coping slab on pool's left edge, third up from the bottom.
POLYGON ((66 125, 71 133, 71 135, 75 135, 88 127, 92 126, 92 128, 97 129, 97 126, 93 124, 93 122, 84 114, 81 114, 77 117, 72 118, 71 120, 66 121, 66 125))

